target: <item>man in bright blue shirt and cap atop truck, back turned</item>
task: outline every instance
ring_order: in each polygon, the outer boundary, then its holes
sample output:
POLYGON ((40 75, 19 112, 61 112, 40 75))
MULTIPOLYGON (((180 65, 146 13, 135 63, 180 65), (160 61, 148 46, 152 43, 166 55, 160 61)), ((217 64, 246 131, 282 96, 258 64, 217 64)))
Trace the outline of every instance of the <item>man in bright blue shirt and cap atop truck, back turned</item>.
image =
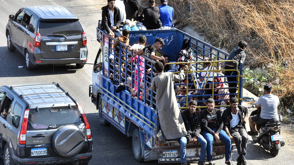
POLYGON ((168 0, 160 0, 161 6, 159 6, 160 11, 160 21, 162 26, 168 26, 173 28, 172 16, 174 15, 174 8, 168 6, 168 0))

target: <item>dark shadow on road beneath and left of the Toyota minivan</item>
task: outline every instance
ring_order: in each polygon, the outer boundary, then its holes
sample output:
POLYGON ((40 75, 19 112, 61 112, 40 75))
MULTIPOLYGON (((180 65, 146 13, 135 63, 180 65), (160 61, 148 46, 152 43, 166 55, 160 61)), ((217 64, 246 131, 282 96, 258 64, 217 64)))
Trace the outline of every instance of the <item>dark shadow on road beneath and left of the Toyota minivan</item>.
POLYGON ((75 65, 53 65, 38 66, 35 70, 27 70, 25 68, 25 57, 15 50, 9 52, 6 46, 0 47, 0 77, 24 77, 24 76, 38 76, 38 75, 59 75, 75 73, 78 69, 75 65), (23 68, 18 68, 23 66, 23 68))

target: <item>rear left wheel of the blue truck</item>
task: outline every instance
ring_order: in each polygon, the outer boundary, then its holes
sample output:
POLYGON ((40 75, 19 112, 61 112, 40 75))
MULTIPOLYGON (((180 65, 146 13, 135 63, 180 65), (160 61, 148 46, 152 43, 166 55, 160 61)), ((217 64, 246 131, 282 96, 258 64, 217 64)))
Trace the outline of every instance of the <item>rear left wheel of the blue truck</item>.
POLYGON ((136 128, 133 133, 132 147, 133 147, 133 154, 134 154, 135 159, 138 162, 144 161, 144 156, 142 154, 140 132, 139 132, 138 128, 136 128))

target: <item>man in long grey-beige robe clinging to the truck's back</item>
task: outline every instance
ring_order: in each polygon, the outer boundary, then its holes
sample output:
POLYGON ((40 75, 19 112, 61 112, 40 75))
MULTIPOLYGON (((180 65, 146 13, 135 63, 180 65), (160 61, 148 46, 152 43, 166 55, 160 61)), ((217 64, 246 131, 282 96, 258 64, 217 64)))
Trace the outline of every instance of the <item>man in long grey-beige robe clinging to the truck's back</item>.
POLYGON ((185 79, 184 71, 187 70, 187 66, 182 68, 179 75, 163 72, 162 62, 156 62, 154 67, 158 75, 152 79, 151 90, 156 90, 156 105, 164 137, 176 139, 186 136, 186 128, 175 98, 174 81, 185 79))

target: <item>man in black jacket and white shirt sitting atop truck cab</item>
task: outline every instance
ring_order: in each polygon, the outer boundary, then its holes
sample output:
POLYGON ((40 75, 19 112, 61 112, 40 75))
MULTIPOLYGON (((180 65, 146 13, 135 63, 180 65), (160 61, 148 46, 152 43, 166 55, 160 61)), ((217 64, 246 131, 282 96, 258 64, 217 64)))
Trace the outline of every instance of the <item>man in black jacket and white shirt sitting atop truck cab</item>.
POLYGON ((122 31, 119 30, 121 23, 120 11, 115 7, 115 0, 107 0, 107 5, 102 10, 102 26, 108 36, 119 37, 122 31))

